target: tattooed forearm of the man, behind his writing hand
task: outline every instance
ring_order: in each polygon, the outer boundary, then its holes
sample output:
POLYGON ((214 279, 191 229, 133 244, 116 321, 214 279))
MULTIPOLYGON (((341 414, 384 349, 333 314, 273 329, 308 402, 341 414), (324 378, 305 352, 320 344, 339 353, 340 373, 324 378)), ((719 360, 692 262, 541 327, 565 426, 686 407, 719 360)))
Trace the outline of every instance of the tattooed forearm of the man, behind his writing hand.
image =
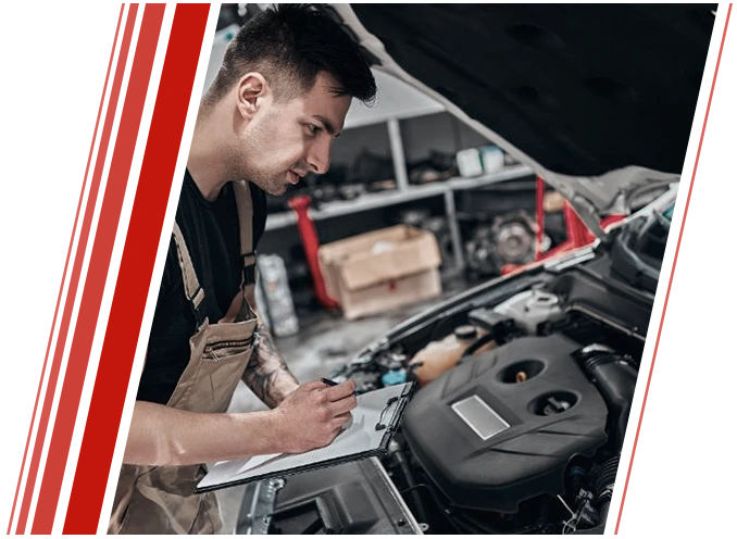
POLYGON ((298 381, 276 350, 268 327, 260 321, 257 330, 259 343, 248 362, 243 381, 264 404, 273 409, 298 386, 298 381))

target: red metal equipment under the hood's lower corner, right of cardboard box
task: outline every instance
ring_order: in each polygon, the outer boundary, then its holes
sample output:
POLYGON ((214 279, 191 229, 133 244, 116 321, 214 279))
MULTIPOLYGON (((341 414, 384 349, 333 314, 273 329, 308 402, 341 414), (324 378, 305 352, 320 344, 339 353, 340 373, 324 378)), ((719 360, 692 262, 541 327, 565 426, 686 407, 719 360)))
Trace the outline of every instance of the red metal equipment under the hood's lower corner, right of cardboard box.
MULTIPOLYGON (((566 201, 563 206, 563 220, 565 221, 565 241, 561 242, 559 246, 550 249, 547 252, 542 252, 542 237, 545 234, 545 181, 541 177, 537 177, 537 241, 535 247, 535 262, 540 262, 541 260, 551 259, 563 254, 574 249, 585 247, 594 243, 596 236, 588 229, 584 222, 576 215, 576 212, 573 210, 571 204, 566 201)), ((601 229, 605 229, 608 226, 613 225, 624 218, 624 215, 610 215, 604 217, 600 222, 601 229)), ((510 273, 519 272, 526 268, 527 265, 516 265, 508 264, 501 268, 502 275, 508 275, 510 273)))

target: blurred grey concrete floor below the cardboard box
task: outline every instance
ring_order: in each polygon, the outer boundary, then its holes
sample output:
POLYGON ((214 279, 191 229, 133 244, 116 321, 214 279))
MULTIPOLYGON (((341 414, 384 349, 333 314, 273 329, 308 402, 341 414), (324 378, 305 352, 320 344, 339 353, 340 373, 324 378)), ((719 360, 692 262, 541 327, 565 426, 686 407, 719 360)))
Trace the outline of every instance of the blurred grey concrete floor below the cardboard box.
MULTIPOLYGON (((452 297, 467 287, 463 279, 444 283, 444 293, 435 300, 399 309, 377 316, 348 322, 340 315, 315 313, 300 321, 300 333, 282 338, 276 344, 300 383, 329 376, 348 362, 363 347, 389 331, 394 326, 452 297)), ((230 412, 252 412, 266 406, 240 383, 230 403, 230 412)), ((246 487, 232 487, 217 491, 225 529, 234 532, 246 487)))

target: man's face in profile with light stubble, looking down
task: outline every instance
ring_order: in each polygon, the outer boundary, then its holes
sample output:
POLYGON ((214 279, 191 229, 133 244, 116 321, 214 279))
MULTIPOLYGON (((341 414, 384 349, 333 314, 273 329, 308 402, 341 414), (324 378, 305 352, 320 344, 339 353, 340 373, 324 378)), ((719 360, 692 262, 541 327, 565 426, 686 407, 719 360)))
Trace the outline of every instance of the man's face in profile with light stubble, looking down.
POLYGON ((325 174, 351 103, 350 96, 338 97, 332 87, 335 80, 321 73, 309 92, 290 101, 264 99, 233 149, 240 177, 279 196, 309 173, 325 174))

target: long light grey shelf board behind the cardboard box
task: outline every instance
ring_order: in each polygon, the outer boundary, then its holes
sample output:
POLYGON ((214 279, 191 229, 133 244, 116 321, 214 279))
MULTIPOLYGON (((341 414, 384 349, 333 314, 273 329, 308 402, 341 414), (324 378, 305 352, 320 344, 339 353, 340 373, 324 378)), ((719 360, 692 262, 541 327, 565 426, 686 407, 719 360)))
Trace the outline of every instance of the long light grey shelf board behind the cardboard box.
MULTIPOLYGON (((386 208, 388 205, 401 204, 412 200, 421 200, 429 197, 437 197, 446 192, 459 191, 463 189, 475 189, 499 181, 521 178, 533 174, 533 170, 526 165, 508 166, 500 172, 478 176, 475 178, 451 178, 446 181, 428 184, 424 186, 410 186, 404 191, 392 190, 387 192, 373 192, 362 195, 355 200, 339 200, 327 202, 321 210, 310 210, 310 216, 313 221, 322 221, 340 215, 350 215, 353 213, 386 208)), ((266 220, 266 230, 284 228, 295 225, 297 215, 293 212, 282 212, 268 215, 266 220)))

